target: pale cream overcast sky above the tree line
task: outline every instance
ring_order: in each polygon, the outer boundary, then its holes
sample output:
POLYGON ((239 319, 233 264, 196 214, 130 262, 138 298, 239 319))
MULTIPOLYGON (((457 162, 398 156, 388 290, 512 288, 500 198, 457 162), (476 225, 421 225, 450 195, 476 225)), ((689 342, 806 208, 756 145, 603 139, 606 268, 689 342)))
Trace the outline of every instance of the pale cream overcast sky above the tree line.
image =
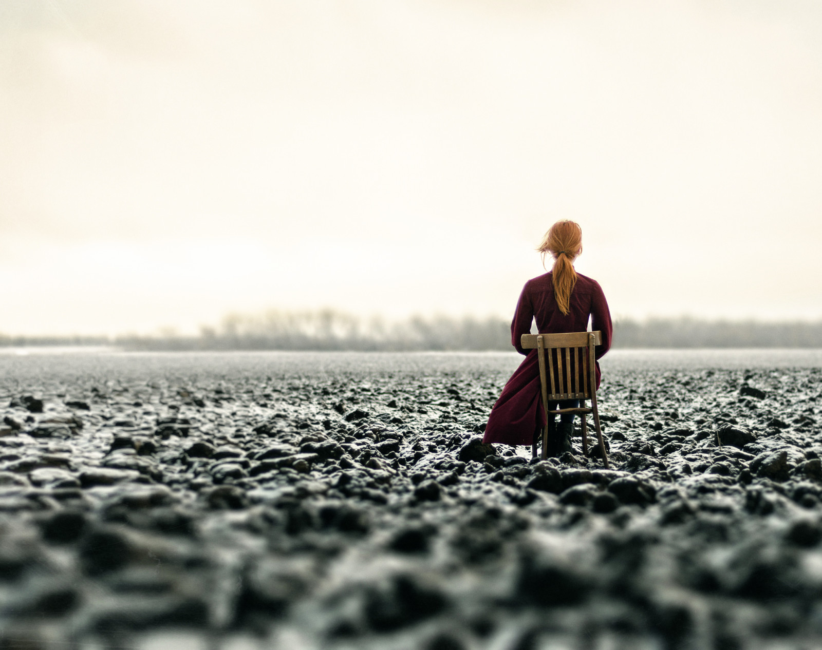
POLYGON ((816 0, 0 0, 0 333, 822 318, 816 0))

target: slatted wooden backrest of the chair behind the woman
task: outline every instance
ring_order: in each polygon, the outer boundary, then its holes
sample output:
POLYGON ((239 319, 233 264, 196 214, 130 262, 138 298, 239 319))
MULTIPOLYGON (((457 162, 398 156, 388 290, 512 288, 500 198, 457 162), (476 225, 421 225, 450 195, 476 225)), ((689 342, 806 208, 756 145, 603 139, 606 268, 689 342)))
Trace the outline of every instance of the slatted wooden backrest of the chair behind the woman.
POLYGON ((593 348, 602 343, 602 332, 523 334, 521 343, 526 350, 538 349, 543 399, 556 402, 561 399, 591 399, 592 395, 596 399, 593 348), (546 375, 551 380, 550 393, 547 392, 546 375))

